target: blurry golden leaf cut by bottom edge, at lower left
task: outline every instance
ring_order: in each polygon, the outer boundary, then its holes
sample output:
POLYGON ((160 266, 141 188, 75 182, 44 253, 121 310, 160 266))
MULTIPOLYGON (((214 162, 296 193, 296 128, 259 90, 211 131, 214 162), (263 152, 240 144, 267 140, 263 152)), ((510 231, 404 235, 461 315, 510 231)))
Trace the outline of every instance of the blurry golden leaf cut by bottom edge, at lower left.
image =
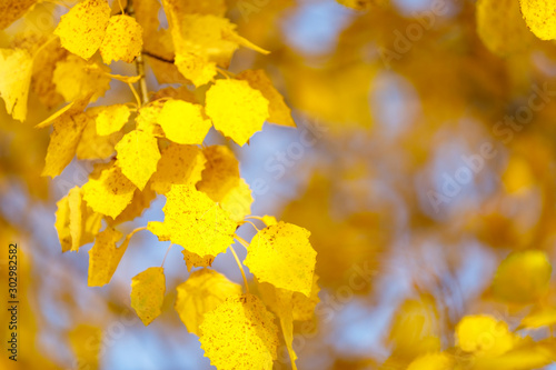
POLYGON ((89 370, 99 369, 102 331, 90 324, 78 324, 68 332, 70 348, 76 354, 76 363, 89 370))

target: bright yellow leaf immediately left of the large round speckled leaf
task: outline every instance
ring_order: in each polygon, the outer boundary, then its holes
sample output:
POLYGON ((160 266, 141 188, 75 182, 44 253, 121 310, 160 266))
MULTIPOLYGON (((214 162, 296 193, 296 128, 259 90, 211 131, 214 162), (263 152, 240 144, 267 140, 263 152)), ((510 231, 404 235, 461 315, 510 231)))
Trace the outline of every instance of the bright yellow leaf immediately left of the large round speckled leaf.
POLYGON ((158 123, 169 140, 180 144, 200 144, 212 126, 210 120, 205 119, 201 109, 198 104, 170 99, 165 102, 158 123))

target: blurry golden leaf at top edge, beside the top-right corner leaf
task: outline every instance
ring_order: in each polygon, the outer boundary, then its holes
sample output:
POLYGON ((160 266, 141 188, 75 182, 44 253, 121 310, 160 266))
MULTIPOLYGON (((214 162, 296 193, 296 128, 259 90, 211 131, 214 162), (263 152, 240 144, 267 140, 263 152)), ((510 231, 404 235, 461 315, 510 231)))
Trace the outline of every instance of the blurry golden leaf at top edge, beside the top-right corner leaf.
POLYGON ((477 33, 493 53, 506 57, 530 44, 534 37, 522 19, 517 1, 479 0, 476 7, 477 33))

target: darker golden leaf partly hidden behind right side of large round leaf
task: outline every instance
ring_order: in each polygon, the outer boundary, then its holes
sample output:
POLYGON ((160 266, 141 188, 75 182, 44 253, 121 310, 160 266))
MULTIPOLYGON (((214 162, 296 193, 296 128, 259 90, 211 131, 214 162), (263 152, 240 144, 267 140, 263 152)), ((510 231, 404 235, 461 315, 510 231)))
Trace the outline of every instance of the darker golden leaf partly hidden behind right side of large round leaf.
POLYGON ((291 110, 286 102, 284 97, 275 89, 272 81, 268 78, 264 70, 246 70, 238 76, 238 80, 245 80, 249 82, 249 86, 256 90, 259 90, 268 100, 268 121, 276 124, 296 127, 296 122, 291 118, 291 110))

